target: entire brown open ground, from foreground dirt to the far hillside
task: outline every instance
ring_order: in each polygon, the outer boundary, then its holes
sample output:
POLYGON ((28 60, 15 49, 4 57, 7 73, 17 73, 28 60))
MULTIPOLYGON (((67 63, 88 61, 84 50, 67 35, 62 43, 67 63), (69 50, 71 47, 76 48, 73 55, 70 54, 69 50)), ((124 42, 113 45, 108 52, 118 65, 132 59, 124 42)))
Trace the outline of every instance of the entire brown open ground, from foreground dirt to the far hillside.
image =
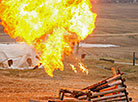
MULTIPOLYGON (((12 70, 0 69, 0 102, 28 102, 30 99, 57 97, 59 89, 81 89, 112 76, 111 68, 118 67, 125 74, 125 84, 129 97, 138 102, 138 66, 114 64, 100 61, 100 58, 112 59, 118 62, 132 62, 132 53, 138 58, 138 6, 137 4, 104 4, 96 5, 98 13, 95 34, 104 36, 89 36, 85 43, 115 44, 115 48, 80 48, 81 54, 86 54, 84 64, 89 70, 86 75, 82 72, 74 73, 65 66, 65 70, 55 71, 54 77, 49 77, 44 69, 12 70), (133 12, 132 12, 133 11, 133 12), (113 35, 111 33, 114 33, 113 35), (111 34, 111 35, 106 35, 111 34), (115 35, 118 34, 118 35, 115 35)), ((2 29, 0 27, 0 29, 2 29)), ((1 32, 3 32, 1 30, 1 32)), ((0 36, 0 42, 13 42, 8 36, 0 36)), ((68 61, 67 61, 68 62, 68 61)), ((65 61, 65 64, 67 64, 65 61)), ((138 63, 138 60, 136 60, 138 63)))

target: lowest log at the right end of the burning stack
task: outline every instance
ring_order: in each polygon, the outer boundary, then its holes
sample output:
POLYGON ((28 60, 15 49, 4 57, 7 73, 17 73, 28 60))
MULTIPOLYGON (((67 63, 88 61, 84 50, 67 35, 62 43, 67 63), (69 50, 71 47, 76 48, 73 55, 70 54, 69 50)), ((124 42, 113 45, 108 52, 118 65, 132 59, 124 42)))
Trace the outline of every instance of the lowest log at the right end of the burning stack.
POLYGON ((110 96, 103 96, 103 97, 99 97, 99 98, 94 98, 91 99, 91 101, 101 101, 101 100, 106 100, 106 99, 111 99, 111 98, 116 98, 116 97, 123 97, 125 96, 124 93, 120 93, 120 94, 115 94, 115 95, 110 95, 110 96))

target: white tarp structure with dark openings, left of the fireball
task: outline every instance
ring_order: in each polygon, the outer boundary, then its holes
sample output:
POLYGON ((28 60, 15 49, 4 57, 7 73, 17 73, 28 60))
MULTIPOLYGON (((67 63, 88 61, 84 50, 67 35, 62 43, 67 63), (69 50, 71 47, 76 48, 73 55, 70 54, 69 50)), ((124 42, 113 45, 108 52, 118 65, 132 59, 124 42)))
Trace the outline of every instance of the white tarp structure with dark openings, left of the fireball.
POLYGON ((35 50, 25 43, 5 43, 0 44, 0 67, 2 64, 13 69, 28 69, 37 65, 35 50), (13 65, 9 67, 8 60, 13 61, 13 65), (31 66, 30 64, 31 63, 31 66))

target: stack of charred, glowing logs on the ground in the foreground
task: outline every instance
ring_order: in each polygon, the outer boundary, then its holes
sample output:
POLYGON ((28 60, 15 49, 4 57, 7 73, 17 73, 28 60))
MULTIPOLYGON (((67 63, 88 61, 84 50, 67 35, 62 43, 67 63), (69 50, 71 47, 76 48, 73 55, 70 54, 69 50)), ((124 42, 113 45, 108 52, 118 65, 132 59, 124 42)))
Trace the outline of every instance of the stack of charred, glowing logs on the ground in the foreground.
POLYGON ((91 102, 129 102, 125 79, 119 69, 112 68, 113 76, 81 90, 60 89, 59 99, 65 97, 91 102))

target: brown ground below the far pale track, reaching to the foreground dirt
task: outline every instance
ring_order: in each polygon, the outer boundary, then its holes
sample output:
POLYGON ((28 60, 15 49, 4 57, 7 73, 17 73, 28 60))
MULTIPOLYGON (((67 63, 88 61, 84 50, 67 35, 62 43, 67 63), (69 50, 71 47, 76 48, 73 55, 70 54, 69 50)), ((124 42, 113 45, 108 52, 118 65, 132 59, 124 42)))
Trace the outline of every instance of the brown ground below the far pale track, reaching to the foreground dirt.
MULTIPOLYGON (((106 35, 105 35, 106 36, 106 35)), ((79 56, 83 53, 83 61, 89 70, 86 75, 82 72, 74 73, 67 63, 72 59, 65 59, 65 70, 55 71, 54 77, 49 77, 44 69, 36 70, 0 70, 0 102, 27 102, 30 99, 44 100, 46 97, 58 97, 60 88, 81 89, 112 76, 112 67, 118 67, 124 72, 125 84, 129 97, 133 102, 138 101, 138 66, 113 64, 100 61, 100 58, 113 59, 120 62, 132 62, 132 52, 138 51, 138 36, 106 36, 88 37, 85 43, 116 44, 116 48, 80 48, 79 56), (128 43, 131 42, 131 43, 128 43)), ((136 52, 136 57, 138 57, 136 52)), ((74 63, 74 62, 73 62, 74 63)), ((136 61, 137 63, 137 61, 136 61)))

